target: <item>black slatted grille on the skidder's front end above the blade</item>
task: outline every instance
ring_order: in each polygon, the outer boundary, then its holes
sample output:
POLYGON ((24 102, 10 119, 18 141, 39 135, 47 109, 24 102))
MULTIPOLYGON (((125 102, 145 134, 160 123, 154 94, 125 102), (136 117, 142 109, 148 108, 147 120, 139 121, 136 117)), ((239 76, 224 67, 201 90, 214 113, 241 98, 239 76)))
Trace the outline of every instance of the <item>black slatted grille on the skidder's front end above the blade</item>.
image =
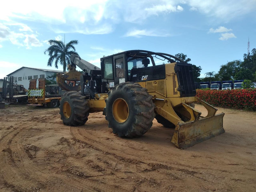
POLYGON ((188 63, 177 62, 175 66, 175 72, 177 74, 181 97, 193 97, 196 96, 196 87, 192 72, 192 65, 188 63))

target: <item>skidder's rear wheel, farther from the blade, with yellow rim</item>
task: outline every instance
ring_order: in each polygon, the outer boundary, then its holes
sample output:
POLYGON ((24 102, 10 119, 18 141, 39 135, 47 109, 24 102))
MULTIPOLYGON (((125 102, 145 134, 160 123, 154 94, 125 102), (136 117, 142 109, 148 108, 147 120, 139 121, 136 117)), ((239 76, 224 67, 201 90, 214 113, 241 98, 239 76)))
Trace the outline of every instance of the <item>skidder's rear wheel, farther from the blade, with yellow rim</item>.
POLYGON ((66 92, 60 100, 60 116, 63 124, 69 126, 83 125, 88 120, 88 101, 81 92, 66 92))

